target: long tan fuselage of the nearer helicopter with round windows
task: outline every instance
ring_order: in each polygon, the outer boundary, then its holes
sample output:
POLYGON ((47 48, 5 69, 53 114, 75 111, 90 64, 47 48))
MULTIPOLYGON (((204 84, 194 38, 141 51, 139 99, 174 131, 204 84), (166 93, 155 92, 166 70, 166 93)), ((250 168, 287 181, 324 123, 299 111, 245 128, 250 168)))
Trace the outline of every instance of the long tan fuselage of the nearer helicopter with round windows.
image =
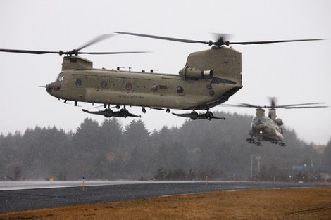
POLYGON ((52 85, 50 94, 68 101, 183 110, 212 108, 227 101, 225 93, 237 88, 211 79, 95 69, 63 71, 52 85))

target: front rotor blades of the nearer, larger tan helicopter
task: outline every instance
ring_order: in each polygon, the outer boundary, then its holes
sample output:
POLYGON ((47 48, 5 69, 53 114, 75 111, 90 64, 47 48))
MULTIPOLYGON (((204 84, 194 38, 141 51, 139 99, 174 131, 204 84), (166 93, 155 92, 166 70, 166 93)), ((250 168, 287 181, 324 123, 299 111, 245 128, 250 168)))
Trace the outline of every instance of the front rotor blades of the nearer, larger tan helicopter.
POLYGON ((114 34, 103 34, 99 37, 92 39, 91 41, 87 42, 83 46, 80 46, 78 49, 73 49, 72 51, 32 51, 32 50, 15 50, 15 49, 0 49, 0 52, 7 52, 7 53, 29 53, 29 54, 46 54, 46 53, 55 53, 58 55, 68 55, 77 56, 78 54, 93 54, 93 55, 103 55, 103 54, 125 54, 125 53, 146 53, 144 51, 123 51, 123 52, 81 52, 80 50, 86 48, 87 46, 91 46, 92 44, 96 44, 99 41, 103 41, 109 37, 114 36, 114 34))

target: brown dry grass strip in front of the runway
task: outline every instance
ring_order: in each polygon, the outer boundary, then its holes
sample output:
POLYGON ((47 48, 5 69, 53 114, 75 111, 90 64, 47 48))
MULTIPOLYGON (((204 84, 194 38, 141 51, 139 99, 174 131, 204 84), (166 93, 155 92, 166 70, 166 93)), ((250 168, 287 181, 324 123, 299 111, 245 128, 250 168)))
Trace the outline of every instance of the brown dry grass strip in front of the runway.
POLYGON ((242 190, 10 212, 0 219, 331 220, 331 188, 242 190))

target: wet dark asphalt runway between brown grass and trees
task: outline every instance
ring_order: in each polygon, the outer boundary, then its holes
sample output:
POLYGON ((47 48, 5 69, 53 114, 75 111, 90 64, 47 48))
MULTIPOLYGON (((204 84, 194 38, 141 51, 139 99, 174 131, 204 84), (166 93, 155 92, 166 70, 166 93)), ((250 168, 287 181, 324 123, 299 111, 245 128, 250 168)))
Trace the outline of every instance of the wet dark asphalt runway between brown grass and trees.
MULTIPOLYGON (((56 186, 56 188, 0 190, 0 213, 152 198, 168 195, 206 193, 258 188, 323 187, 313 183, 280 182, 142 182, 99 186, 56 186)), ((329 185, 330 187, 330 185, 329 185)), ((1 189, 1 188, 0 188, 1 189)))

